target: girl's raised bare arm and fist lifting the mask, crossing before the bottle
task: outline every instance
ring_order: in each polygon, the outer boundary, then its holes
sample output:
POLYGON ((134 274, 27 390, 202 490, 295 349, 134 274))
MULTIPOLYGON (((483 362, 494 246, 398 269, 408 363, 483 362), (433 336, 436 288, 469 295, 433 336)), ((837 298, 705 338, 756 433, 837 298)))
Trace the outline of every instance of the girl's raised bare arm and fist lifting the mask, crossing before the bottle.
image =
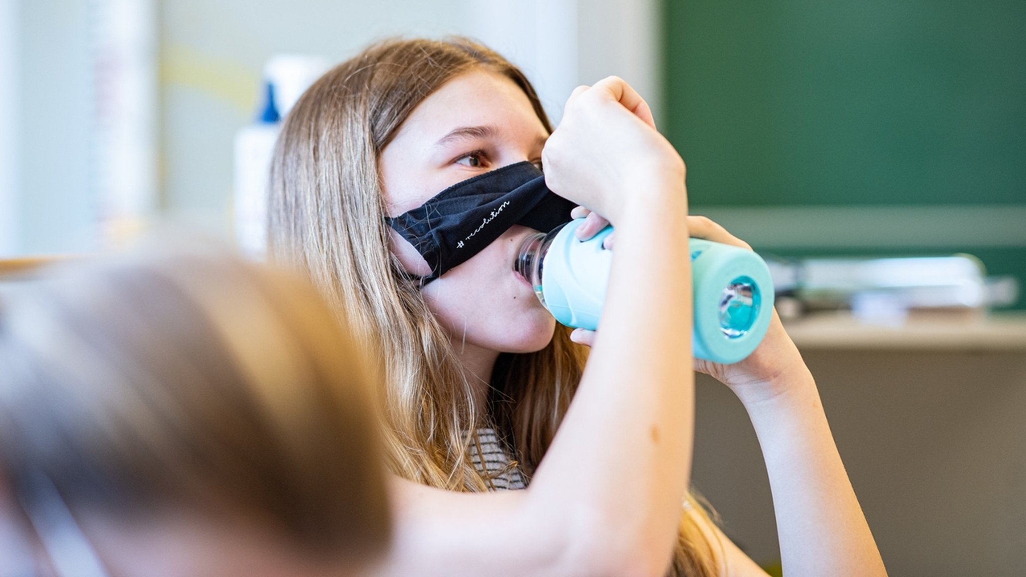
POLYGON ((382 574, 665 571, 694 429, 679 354, 692 346, 687 205, 682 161, 639 117, 650 122, 643 101, 606 79, 575 92, 546 146, 550 188, 608 215, 618 244, 591 360, 530 487, 467 495, 396 480, 382 574))

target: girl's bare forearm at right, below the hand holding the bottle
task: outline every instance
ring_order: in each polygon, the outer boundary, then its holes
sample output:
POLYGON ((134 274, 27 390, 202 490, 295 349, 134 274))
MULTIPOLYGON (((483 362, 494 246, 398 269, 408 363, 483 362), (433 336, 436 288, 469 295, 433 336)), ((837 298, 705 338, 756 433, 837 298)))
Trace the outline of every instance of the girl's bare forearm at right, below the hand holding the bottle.
POLYGON ((834 445, 819 391, 802 364, 779 391, 746 403, 765 457, 784 574, 885 575, 834 445))

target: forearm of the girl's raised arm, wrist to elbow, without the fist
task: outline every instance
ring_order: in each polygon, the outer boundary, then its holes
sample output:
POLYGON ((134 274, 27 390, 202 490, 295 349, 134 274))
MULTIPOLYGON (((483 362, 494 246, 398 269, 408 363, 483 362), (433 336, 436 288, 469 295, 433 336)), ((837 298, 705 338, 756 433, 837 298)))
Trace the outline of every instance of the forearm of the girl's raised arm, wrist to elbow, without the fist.
POLYGON ((687 486, 694 376, 685 216, 681 188, 615 222, 601 326, 531 488, 591 503, 588 514, 602 518, 587 522, 622 534, 610 547, 668 554, 687 486))

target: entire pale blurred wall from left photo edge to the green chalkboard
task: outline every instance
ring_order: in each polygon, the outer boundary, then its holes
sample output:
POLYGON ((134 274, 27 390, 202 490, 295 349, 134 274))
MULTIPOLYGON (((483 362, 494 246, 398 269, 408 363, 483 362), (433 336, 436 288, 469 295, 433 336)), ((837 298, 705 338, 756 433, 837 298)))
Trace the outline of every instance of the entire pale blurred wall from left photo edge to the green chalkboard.
POLYGON ((227 235, 233 138, 275 53, 341 61, 387 36, 463 34, 520 65, 554 121, 575 86, 608 74, 658 110, 655 0, 145 0, 158 9, 152 99, 145 62, 112 79, 104 56, 134 42, 109 17, 133 2, 0 0, 0 256, 90 252, 105 224, 151 207, 227 235), (154 121, 111 98, 126 81, 159 106, 154 121), (128 117, 155 124, 153 152, 128 117))

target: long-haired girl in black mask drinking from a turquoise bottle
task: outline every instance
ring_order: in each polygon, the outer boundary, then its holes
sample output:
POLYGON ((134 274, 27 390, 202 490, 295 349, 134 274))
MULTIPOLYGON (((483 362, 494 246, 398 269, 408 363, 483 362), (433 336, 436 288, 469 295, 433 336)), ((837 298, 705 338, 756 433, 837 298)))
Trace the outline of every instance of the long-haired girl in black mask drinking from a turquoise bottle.
POLYGON ((383 574, 763 575, 687 493, 693 369, 752 416, 787 574, 883 574, 779 320, 745 361, 693 367, 687 238, 743 243, 687 216, 684 164, 622 80, 575 90, 553 132, 486 47, 385 42, 304 94, 271 187, 273 257, 305 269, 384 362, 396 539, 383 574), (593 210, 577 209, 579 237, 617 228, 597 334, 556 328, 514 271, 531 225, 568 220, 535 195, 542 165, 593 210))

